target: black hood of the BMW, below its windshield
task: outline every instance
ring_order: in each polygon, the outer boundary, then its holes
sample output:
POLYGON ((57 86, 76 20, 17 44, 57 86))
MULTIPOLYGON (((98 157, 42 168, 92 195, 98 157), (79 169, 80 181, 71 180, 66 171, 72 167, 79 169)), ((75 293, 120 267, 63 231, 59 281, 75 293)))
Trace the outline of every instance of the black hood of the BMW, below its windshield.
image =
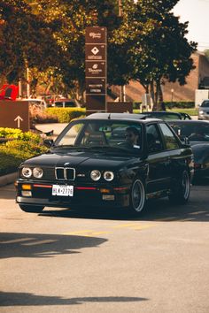
POLYGON ((35 156, 27 159, 23 164, 30 166, 43 166, 43 167, 55 167, 55 166, 66 166, 66 167, 108 167, 116 168, 121 167, 123 164, 133 164, 133 159, 139 160, 138 157, 131 155, 124 156, 110 156, 109 154, 95 152, 89 153, 83 151, 74 151, 66 154, 59 153, 47 153, 41 156, 35 156))

